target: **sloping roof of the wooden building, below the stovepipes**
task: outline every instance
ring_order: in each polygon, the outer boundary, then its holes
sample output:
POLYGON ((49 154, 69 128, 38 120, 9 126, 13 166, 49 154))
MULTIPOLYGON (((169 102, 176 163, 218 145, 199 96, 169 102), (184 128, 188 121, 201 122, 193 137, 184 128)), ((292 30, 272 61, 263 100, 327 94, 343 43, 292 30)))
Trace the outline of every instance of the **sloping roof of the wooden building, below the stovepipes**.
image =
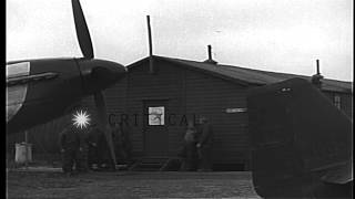
MULTIPOLYGON (((233 66, 233 65, 211 64, 205 62, 196 62, 196 61, 156 56, 156 55, 154 55, 154 59, 164 60, 181 66, 200 70, 203 72, 210 73, 212 75, 240 81, 241 83, 246 83, 246 84, 265 85, 265 84, 282 82, 293 77, 301 77, 301 78, 311 81, 311 76, 305 76, 305 75, 260 71, 260 70, 252 70, 252 69, 245 69, 245 67, 233 66)), ((129 67, 134 66, 138 63, 141 63, 141 61, 131 64, 129 67)), ((345 93, 352 93, 353 91, 352 82, 344 82, 344 81, 329 80, 329 78, 323 78, 322 82, 323 82, 322 90, 325 90, 325 91, 345 92, 345 93)))

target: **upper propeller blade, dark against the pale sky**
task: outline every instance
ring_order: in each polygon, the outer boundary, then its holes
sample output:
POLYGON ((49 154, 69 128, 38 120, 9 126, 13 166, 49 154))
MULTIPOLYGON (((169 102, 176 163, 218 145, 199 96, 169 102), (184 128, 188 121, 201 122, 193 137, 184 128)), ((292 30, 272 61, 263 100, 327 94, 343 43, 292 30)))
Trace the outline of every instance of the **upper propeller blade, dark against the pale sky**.
POLYGON ((84 57, 93 59, 93 49, 92 49, 91 38, 90 38, 84 14, 81 10, 80 2, 79 0, 72 0, 71 2, 73 7, 77 38, 79 41, 81 52, 84 55, 84 57))

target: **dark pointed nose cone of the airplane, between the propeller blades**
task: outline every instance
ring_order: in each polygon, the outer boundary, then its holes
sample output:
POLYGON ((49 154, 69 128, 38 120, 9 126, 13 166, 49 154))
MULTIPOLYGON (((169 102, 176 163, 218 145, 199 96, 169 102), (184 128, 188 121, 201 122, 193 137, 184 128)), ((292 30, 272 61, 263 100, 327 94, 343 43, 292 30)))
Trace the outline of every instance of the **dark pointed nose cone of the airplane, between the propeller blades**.
POLYGON ((79 60, 82 85, 87 94, 104 90, 121 80, 126 69, 115 62, 104 60, 79 60))

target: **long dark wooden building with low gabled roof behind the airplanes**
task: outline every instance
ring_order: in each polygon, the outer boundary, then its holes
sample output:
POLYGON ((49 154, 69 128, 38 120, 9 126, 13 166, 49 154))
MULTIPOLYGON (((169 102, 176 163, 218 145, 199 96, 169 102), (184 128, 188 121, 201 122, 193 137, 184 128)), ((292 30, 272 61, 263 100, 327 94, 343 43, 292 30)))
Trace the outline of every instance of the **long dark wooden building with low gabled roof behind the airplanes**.
MULTIPOLYGON (((109 123, 129 125, 136 160, 176 157, 186 119, 204 115, 214 128, 214 167, 242 166, 247 170, 251 159, 247 91, 292 77, 311 81, 311 76, 220 65, 212 59, 196 62, 153 56, 152 61, 153 67, 149 57, 129 65, 128 75, 104 92, 109 123)), ((353 117, 351 82, 323 78, 321 90, 353 117)), ((93 97, 85 98, 83 104, 94 108, 93 97)), ((55 124, 49 125, 43 135, 55 137, 51 127, 55 124)))

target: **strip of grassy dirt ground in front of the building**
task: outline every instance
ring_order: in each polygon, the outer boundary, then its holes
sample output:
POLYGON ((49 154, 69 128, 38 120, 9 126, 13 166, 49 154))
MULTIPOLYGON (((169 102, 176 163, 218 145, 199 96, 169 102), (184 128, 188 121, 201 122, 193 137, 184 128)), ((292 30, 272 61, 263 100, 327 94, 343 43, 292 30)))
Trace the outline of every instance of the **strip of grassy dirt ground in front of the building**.
POLYGON ((12 198, 260 198, 251 172, 7 171, 12 198))

